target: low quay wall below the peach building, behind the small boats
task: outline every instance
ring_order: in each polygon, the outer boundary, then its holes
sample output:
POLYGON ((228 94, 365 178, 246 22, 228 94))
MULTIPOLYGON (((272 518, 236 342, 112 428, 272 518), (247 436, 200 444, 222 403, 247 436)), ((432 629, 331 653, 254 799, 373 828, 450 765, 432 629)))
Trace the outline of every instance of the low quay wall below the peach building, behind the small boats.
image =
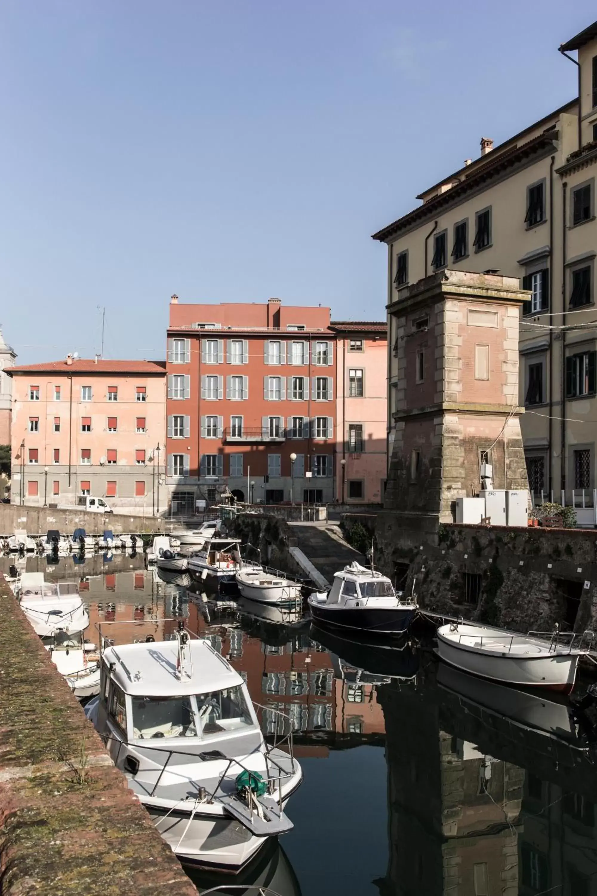
POLYGON ((73 507, 58 510, 55 507, 28 507, 22 504, 0 504, 0 533, 12 535, 15 529, 27 530, 28 535, 45 535, 48 529, 57 529, 63 535, 72 535, 75 529, 84 529, 89 535, 101 534, 111 529, 115 535, 124 532, 169 532, 170 521, 158 516, 130 516, 126 513, 89 513, 73 507))

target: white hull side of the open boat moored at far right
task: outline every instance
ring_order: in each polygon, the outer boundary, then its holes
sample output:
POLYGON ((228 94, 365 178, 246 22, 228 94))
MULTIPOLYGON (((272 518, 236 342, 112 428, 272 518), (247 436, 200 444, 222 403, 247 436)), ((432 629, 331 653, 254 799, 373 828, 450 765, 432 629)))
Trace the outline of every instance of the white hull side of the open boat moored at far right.
POLYGON ((475 676, 517 687, 538 687, 570 694, 575 686, 578 654, 520 657, 490 655, 448 642, 438 633, 439 658, 475 676))

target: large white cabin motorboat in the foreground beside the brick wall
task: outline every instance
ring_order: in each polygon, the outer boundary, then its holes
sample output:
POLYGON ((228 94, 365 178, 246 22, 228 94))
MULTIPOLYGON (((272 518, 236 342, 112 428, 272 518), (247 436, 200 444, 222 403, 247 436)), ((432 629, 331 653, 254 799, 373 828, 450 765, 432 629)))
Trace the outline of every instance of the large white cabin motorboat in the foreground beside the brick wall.
POLYGON ((292 828, 292 725, 268 708, 288 728, 266 744, 242 676, 208 641, 179 628, 174 641, 108 647, 100 665, 86 714, 183 863, 235 872, 292 828))

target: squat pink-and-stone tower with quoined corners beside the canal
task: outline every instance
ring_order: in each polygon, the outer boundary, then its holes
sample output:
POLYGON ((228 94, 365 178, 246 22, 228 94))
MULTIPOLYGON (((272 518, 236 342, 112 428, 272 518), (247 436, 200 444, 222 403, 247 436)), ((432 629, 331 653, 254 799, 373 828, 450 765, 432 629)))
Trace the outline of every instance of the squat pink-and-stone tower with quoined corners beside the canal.
POLYGON ((518 408, 518 317, 528 298, 513 277, 439 271, 388 306, 391 383, 386 510, 400 528, 431 532, 455 499, 481 487, 526 489, 518 408))

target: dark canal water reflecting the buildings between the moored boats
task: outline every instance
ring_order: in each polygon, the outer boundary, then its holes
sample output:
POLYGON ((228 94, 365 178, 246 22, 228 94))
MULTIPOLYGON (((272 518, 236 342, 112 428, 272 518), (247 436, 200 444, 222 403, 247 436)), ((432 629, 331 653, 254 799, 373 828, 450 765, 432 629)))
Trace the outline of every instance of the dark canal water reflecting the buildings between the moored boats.
MULTIPOLYGON (((234 883, 279 896, 597 893, 597 758, 564 702, 465 676, 429 647, 381 650, 317 631, 300 610, 201 595, 142 556, 27 569, 81 582, 92 640, 96 625, 116 642, 169 637, 182 617, 254 702, 293 719, 294 830, 234 883)), ((226 883, 192 879, 199 892, 226 883)))

